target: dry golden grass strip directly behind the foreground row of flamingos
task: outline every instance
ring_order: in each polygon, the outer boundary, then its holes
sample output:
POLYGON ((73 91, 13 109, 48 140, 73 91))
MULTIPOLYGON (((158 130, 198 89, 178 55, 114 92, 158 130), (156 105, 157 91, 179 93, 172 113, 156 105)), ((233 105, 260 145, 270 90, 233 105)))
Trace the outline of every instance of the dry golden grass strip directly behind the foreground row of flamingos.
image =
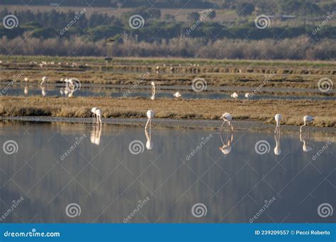
POLYGON ((301 125, 303 115, 313 115, 313 125, 336 127, 335 100, 174 100, 159 98, 57 98, 57 97, 0 97, 0 115, 90 117, 96 106, 103 117, 145 117, 147 110, 155 111, 157 118, 215 120, 223 113, 231 113, 235 120, 262 120, 274 122, 281 113, 283 123, 301 125))

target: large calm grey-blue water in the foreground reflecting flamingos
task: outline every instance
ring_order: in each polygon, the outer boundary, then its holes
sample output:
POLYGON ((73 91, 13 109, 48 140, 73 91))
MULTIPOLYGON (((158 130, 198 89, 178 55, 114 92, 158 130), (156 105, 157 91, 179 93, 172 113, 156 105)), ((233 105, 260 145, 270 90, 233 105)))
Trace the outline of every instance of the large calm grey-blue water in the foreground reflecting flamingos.
POLYGON ((18 122, 1 123, 0 132, 1 146, 18 144, 14 154, 1 151, 1 222, 335 221, 335 214, 318 215, 322 203, 336 208, 335 143, 312 159, 328 137, 303 143, 298 134, 283 134, 276 146, 274 135, 262 132, 220 137, 152 127, 146 135, 140 127, 18 122), (269 153, 257 154, 260 140, 269 153), (218 149, 223 144, 225 154, 218 149), (67 216, 71 203, 79 205, 79 216, 67 216), (197 203, 204 216, 191 212, 197 203))

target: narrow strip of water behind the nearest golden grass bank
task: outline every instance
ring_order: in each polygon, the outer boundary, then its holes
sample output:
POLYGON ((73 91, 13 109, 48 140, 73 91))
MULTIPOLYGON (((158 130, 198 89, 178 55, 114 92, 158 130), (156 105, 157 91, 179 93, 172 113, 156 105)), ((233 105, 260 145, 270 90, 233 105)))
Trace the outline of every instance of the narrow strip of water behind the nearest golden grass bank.
MULTIPOLYGON (((5 86, 0 86, 4 88, 5 86)), ((79 91, 75 91, 73 96, 111 96, 111 97, 123 97, 124 93, 126 93, 129 88, 87 88, 82 87, 79 91)), ((155 94, 155 98, 174 98, 173 94, 177 90, 162 90, 157 89, 157 93, 155 94)), ((224 91, 181 91, 182 97, 186 99, 233 99, 231 98, 231 92, 224 91)), ((244 97, 245 92, 239 92, 240 96, 238 99, 245 100, 244 97)), ((1 95, 1 94, 0 94, 1 95)), ((69 95, 69 91, 66 92, 65 88, 59 86, 46 86, 45 88, 40 88, 40 86, 27 86, 25 93, 25 86, 15 86, 7 90, 4 95, 6 96, 67 96, 69 95)), ((130 97, 143 97, 150 98, 151 90, 150 89, 142 89, 136 88, 135 91, 132 91, 128 94, 130 97)), ((277 96, 272 94, 262 94, 255 95, 252 98, 253 100, 259 99, 290 99, 290 100, 301 100, 301 99, 309 99, 309 100, 336 100, 336 96, 277 96)))

